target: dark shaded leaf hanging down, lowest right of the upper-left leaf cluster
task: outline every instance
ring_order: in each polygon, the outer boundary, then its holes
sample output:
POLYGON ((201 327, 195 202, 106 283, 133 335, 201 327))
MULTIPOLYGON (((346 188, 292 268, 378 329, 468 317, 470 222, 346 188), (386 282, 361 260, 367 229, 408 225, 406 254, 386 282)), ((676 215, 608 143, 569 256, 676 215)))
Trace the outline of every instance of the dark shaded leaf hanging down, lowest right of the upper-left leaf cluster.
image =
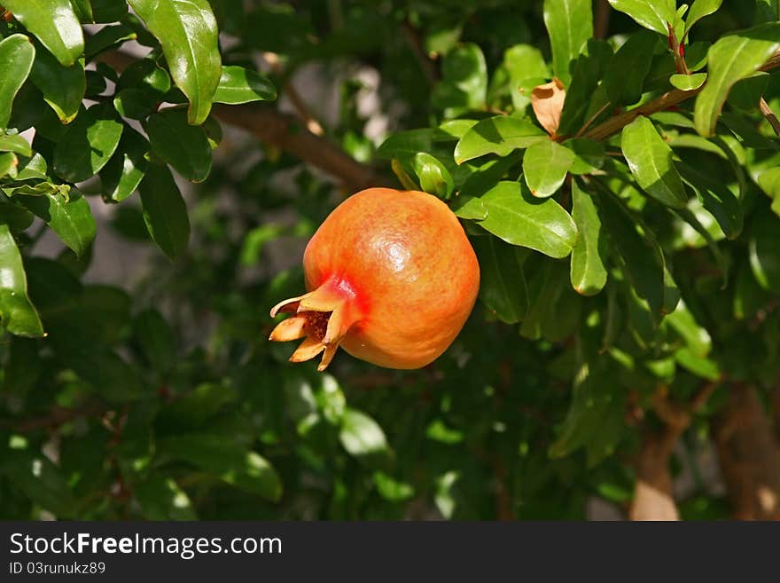
POLYGON ((144 207, 144 223, 152 240, 171 259, 183 253, 190 239, 190 219, 168 166, 150 164, 138 192, 144 207))

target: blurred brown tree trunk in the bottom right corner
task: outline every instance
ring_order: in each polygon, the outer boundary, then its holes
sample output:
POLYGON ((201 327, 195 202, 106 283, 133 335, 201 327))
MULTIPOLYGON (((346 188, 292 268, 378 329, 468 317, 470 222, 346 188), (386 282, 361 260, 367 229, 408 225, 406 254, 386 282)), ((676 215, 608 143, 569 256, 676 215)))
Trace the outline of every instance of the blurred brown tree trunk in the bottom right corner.
POLYGON ((738 520, 780 520, 780 439, 755 390, 735 385, 714 427, 738 520))

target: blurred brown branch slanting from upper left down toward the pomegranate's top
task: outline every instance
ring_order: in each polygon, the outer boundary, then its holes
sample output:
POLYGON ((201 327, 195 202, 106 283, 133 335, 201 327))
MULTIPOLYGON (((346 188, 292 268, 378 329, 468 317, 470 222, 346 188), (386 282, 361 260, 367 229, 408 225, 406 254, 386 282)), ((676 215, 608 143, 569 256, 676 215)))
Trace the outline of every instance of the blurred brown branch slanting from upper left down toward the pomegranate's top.
MULTIPOLYGON (((118 71, 136 61, 121 51, 106 52, 100 59, 118 71)), ((221 122, 247 130, 263 142, 338 177, 351 191, 390 184, 373 167, 357 162, 331 141, 300 127, 294 116, 282 114, 273 107, 257 103, 241 106, 214 104, 212 112, 221 122)))

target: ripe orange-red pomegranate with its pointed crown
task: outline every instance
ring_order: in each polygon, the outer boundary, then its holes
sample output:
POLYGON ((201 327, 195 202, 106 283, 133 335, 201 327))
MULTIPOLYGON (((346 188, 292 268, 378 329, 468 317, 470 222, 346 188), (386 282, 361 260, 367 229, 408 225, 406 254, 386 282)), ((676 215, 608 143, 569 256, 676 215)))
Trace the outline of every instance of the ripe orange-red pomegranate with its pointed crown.
POLYGON ((388 368, 425 366, 455 340, 477 298, 480 265, 457 218, 436 197, 369 188, 331 212, 303 255, 308 294, 277 303, 292 313, 270 335, 304 338, 290 360, 339 346, 388 368))

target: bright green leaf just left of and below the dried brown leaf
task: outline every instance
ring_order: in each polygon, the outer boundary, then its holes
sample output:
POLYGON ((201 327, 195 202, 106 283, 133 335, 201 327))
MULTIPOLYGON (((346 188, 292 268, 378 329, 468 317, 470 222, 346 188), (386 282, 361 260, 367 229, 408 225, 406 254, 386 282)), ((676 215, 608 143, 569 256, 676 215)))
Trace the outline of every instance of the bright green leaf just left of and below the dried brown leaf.
MULTIPOLYGON (((455 146, 458 164, 485 154, 508 156, 514 150, 527 148, 539 141, 550 141, 547 134, 532 122, 517 117, 497 115, 477 123, 455 146)), ((425 150, 417 150, 417 152, 425 150)))

